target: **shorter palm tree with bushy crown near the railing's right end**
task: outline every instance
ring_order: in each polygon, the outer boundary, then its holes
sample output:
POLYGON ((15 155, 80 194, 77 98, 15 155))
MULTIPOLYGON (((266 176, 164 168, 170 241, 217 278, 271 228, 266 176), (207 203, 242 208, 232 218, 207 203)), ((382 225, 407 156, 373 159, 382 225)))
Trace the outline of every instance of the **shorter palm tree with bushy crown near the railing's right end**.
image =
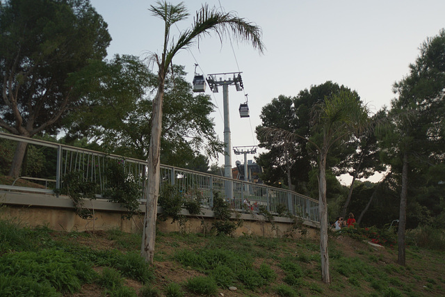
POLYGON ((353 134, 362 133, 368 127, 368 109, 362 105, 357 95, 352 92, 340 91, 324 102, 313 107, 313 133, 306 138, 291 131, 264 128, 261 134, 266 137, 291 141, 296 137, 304 138, 318 154, 318 213, 320 216, 320 251, 321 279, 330 283, 329 255, 327 252, 327 193, 326 193, 326 161, 330 147, 353 134))

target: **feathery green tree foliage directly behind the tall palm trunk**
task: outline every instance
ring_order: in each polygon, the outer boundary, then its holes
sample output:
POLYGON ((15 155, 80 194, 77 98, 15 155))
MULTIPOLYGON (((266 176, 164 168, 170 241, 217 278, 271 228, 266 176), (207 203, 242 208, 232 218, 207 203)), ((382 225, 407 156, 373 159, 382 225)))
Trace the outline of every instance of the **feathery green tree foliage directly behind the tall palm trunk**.
MULTIPOLYGON (((193 95, 184 67, 173 65, 165 78, 161 161, 171 166, 207 172, 209 156, 222 152, 223 143, 213 131, 209 95, 193 95)), ((91 76, 94 88, 83 106, 64 121, 67 141, 87 137, 101 150, 147 159, 156 74, 136 56, 115 56, 97 65, 101 75, 91 76)))

